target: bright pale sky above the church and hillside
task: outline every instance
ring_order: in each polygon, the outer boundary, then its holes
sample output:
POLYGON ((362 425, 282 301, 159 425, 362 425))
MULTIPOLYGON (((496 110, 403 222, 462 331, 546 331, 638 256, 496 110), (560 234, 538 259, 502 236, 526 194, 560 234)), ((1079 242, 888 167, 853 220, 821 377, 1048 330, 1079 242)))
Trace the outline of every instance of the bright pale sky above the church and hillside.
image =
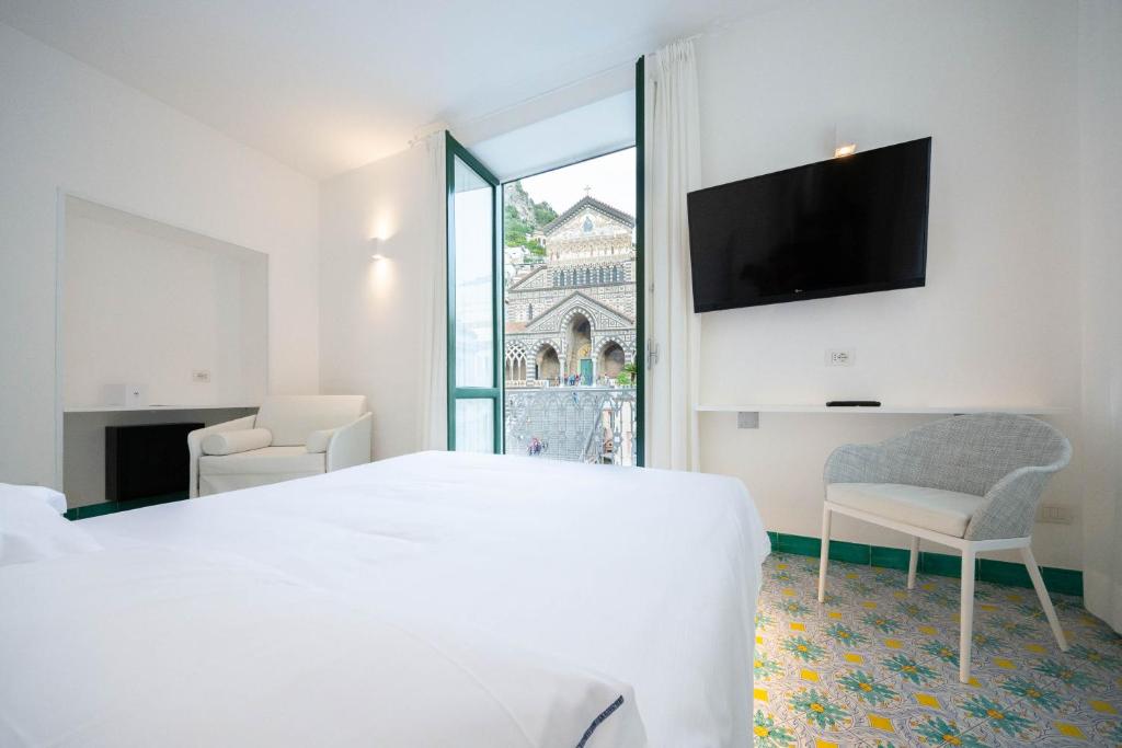
POLYGON ((522 186, 535 202, 549 202, 558 213, 583 197, 585 187, 591 187, 592 197, 635 215, 635 149, 526 177, 522 186))

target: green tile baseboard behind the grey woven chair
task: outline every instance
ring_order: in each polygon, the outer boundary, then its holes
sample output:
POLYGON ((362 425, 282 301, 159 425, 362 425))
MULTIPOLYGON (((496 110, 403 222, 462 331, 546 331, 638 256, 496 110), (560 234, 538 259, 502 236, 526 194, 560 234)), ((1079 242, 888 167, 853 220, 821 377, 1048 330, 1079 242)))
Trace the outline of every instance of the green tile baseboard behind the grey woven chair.
MULTIPOLYGON (((772 551, 778 553, 792 553, 798 556, 813 556, 817 558, 822 552, 822 542, 817 537, 787 535, 772 530, 767 532, 767 537, 771 538, 772 551)), ((864 543, 830 541, 830 560, 908 571, 908 551, 905 548, 889 548, 880 545, 865 545, 864 543)), ((919 571, 923 574, 954 576, 957 579, 962 576, 962 570, 963 562, 958 556, 920 551, 919 571)), ((984 582, 1008 584, 1010 587, 1032 587, 1032 580, 1029 579, 1029 572, 1024 569, 1024 564, 978 558, 975 565, 975 574, 977 579, 984 582)), ((1073 569, 1041 566, 1040 575, 1043 576, 1045 587, 1050 592, 1083 597, 1083 572, 1073 569)))

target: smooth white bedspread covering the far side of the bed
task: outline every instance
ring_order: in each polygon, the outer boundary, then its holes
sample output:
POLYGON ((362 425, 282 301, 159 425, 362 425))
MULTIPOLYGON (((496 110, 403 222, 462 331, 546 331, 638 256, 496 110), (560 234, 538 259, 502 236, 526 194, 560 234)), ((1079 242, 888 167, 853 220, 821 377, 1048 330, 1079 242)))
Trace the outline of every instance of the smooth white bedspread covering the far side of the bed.
POLYGON ((406 628, 603 673, 634 689, 652 746, 752 741, 770 545, 730 478, 431 452, 81 525, 107 548, 231 554, 406 628))

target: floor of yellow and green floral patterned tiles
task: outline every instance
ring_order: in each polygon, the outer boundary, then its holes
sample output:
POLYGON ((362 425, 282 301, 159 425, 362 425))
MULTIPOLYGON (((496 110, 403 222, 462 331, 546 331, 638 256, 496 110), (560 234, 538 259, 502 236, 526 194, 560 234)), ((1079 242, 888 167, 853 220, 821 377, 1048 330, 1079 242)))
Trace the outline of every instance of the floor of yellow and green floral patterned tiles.
POLYGON ((1122 746, 1122 637, 1054 595, 977 582, 971 683, 958 682, 956 579, 773 554, 756 616, 755 745, 1122 746))

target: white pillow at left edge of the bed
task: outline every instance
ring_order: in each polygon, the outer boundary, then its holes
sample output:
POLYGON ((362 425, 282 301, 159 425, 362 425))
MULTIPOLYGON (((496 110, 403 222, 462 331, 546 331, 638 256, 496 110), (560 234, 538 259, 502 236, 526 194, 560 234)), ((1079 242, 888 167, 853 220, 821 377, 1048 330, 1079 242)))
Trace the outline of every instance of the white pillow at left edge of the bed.
POLYGON ((0 566, 100 551, 101 544, 26 486, 0 486, 0 566))

